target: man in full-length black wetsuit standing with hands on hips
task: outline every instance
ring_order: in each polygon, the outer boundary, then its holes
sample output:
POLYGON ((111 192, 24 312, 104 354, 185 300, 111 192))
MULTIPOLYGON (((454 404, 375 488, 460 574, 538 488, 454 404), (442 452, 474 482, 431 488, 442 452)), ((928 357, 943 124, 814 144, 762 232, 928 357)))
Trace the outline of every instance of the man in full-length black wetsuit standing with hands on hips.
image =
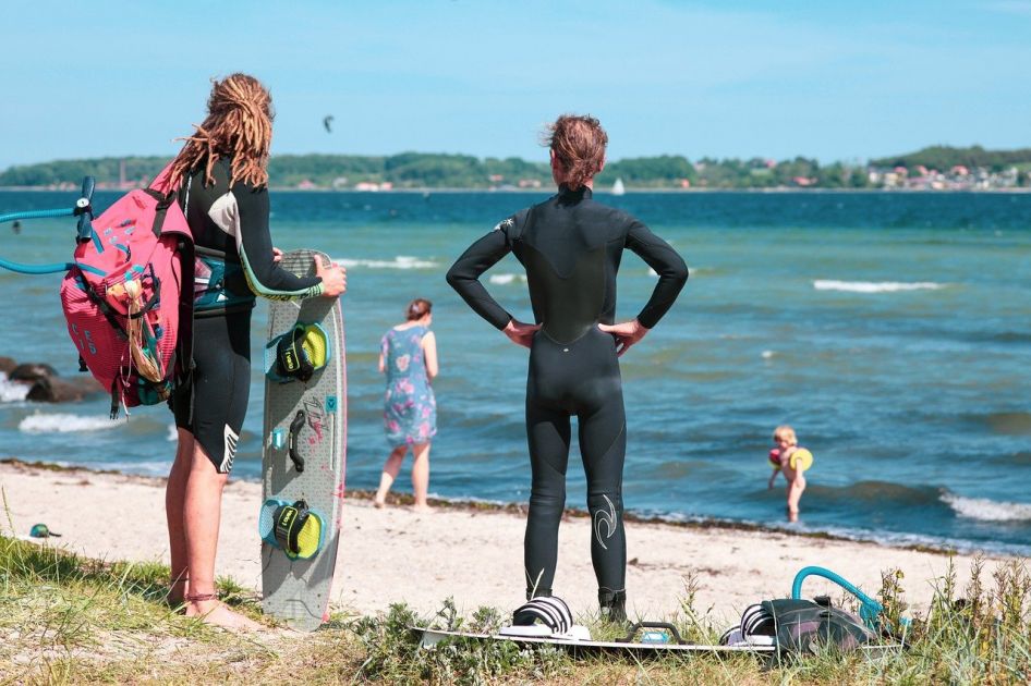
POLYGON ((641 341, 688 279, 679 255, 629 215, 592 199, 608 137, 596 119, 560 117, 550 127, 558 194, 517 212, 474 243, 448 283, 481 317, 530 348, 526 436, 533 485, 524 541, 526 596, 550 596, 566 504, 570 417, 578 417, 593 536, 591 559, 603 616, 626 620, 627 541, 622 469, 627 446, 617 357, 641 341), (658 273, 633 321, 614 324, 623 248, 658 273), (480 275, 508 253, 526 269, 536 324, 517 321, 480 275))

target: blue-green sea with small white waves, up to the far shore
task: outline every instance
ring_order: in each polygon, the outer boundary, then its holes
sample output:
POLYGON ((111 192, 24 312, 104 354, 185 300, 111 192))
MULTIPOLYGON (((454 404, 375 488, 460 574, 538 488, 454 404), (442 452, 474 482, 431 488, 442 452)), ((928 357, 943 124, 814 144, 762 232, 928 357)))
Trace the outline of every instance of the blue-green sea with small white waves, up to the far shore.
MULTIPOLYGON (((69 206, 74 194, 0 193, 0 212, 69 206)), ((116 196, 98 193, 96 205, 116 196)), ((414 297, 434 302, 440 376, 432 493, 524 502, 524 348, 445 283, 454 258, 543 194, 272 193, 272 236, 348 267, 348 486, 375 488, 387 456, 377 372, 381 334, 414 297)), ((1031 553, 1031 195, 631 193, 598 199, 641 218, 682 254, 687 287, 622 358, 628 511, 670 519, 785 526, 784 481, 766 453, 790 424, 815 455, 802 530, 889 542, 1031 553)), ((0 226, 0 256, 68 259, 72 220, 0 226)), ((507 257, 483 279, 529 320, 507 257)), ((627 254, 619 319, 656 282, 627 254)), ((0 355, 77 373, 59 275, 0 271, 0 355)), ((255 310, 252 351, 266 307, 255 310)), ((263 378, 234 476, 260 473, 263 378)), ((163 475, 171 415, 107 418, 108 399, 41 405, 0 380, 2 453, 163 475)), ((585 502, 574 445, 568 504, 585 502)), ((398 480, 407 489, 408 471, 398 480)))

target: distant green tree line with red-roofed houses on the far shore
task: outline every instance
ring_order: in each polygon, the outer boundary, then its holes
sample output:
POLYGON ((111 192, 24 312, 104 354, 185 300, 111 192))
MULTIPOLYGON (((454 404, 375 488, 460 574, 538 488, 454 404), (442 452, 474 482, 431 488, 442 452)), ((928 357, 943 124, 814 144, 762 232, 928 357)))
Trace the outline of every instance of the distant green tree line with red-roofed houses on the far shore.
MULTIPOLYGON (((141 185, 167 163, 165 157, 58 160, 11 167, 0 172, 0 186, 54 187, 94 176, 101 187, 141 185)), ((631 188, 866 188, 876 184, 875 169, 958 167, 999 172, 1016 168, 1017 185, 1029 185, 1031 148, 985 150, 980 146, 933 146, 917 152, 871 160, 834 162, 796 157, 714 159, 693 162, 679 155, 614 160, 597 176, 601 186, 617 179, 631 188)), ((391 156, 279 155, 269 161, 269 185, 279 188, 538 188, 551 183, 546 162, 468 155, 402 152, 391 156)))

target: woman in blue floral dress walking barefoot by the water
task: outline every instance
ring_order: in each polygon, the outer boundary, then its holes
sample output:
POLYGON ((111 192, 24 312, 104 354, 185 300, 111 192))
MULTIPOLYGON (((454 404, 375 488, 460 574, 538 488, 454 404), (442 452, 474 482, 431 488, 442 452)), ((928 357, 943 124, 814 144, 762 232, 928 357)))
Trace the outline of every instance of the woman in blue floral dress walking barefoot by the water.
POLYGON ((379 371, 387 375, 383 422, 390 444, 390 455, 383 467, 376 506, 383 507, 387 491, 398 477, 408 449, 412 449, 412 490, 415 510, 429 510, 429 441, 437 433, 437 401, 430 379, 437 376, 437 340, 429 324, 433 303, 423 298, 411 302, 407 321, 383 336, 379 371))

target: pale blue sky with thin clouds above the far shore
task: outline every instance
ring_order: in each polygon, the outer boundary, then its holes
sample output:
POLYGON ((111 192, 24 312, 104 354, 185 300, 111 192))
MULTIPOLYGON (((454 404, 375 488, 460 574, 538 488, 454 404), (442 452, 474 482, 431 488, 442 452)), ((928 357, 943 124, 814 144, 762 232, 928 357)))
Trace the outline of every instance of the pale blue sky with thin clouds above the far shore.
POLYGON ((274 155, 543 161, 562 112, 610 159, 1031 147, 1031 0, 35 0, 4 24, 0 170, 171 157, 236 71, 271 90, 274 155))

